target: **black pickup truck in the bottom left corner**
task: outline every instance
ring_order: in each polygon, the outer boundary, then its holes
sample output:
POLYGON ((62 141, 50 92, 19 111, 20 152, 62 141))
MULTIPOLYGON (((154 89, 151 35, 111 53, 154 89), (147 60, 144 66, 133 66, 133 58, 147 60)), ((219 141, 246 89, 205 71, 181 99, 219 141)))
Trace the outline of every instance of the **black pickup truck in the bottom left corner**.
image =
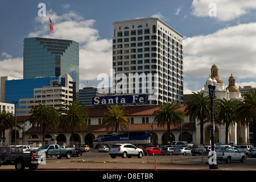
POLYGON ((18 171, 23 171, 25 167, 30 170, 38 169, 38 159, 34 154, 23 153, 22 147, 0 147, 0 166, 14 165, 18 171))

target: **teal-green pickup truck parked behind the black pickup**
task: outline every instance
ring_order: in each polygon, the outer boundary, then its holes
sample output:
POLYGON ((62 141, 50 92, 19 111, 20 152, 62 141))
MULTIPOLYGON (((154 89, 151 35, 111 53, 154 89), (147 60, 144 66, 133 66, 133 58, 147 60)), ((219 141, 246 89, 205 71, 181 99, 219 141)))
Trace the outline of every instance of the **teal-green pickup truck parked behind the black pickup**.
POLYGON ((58 144, 45 144, 32 153, 45 152, 46 156, 57 156, 58 159, 66 157, 70 159, 75 154, 75 148, 61 148, 58 144))

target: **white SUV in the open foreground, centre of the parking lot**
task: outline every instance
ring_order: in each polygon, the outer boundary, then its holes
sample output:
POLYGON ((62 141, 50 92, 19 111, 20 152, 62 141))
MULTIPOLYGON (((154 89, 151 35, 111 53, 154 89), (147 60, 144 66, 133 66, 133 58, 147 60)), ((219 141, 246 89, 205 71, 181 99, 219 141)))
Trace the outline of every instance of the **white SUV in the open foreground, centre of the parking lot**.
POLYGON ((117 156, 122 156, 122 158, 131 158, 131 156, 138 156, 138 158, 142 158, 143 150, 129 143, 113 144, 110 147, 109 155, 112 159, 116 158, 117 156))

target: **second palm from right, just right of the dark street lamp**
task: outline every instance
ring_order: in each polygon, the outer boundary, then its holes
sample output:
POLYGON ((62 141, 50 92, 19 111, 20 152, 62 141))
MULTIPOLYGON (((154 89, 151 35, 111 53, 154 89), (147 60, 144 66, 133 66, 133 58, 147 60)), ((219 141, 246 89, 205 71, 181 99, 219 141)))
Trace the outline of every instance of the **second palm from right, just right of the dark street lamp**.
POLYGON ((236 125, 237 117, 236 117, 236 109, 239 101, 236 100, 216 100, 216 104, 220 107, 220 113, 216 117, 216 122, 221 124, 223 121, 223 125, 226 125, 225 131, 225 143, 228 144, 228 135, 229 135, 229 126, 236 125))

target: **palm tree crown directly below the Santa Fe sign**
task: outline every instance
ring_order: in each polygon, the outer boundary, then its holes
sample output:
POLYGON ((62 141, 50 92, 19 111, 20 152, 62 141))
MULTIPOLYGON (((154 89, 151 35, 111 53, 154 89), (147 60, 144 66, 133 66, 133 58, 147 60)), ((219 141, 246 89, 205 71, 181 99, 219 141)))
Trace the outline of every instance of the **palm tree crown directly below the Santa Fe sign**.
POLYGON ((113 130, 115 132, 118 129, 123 130, 123 127, 128 124, 128 113, 125 113, 125 109, 119 105, 113 105, 108 107, 109 112, 104 113, 106 116, 102 119, 102 125, 106 126, 106 130, 113 130))

